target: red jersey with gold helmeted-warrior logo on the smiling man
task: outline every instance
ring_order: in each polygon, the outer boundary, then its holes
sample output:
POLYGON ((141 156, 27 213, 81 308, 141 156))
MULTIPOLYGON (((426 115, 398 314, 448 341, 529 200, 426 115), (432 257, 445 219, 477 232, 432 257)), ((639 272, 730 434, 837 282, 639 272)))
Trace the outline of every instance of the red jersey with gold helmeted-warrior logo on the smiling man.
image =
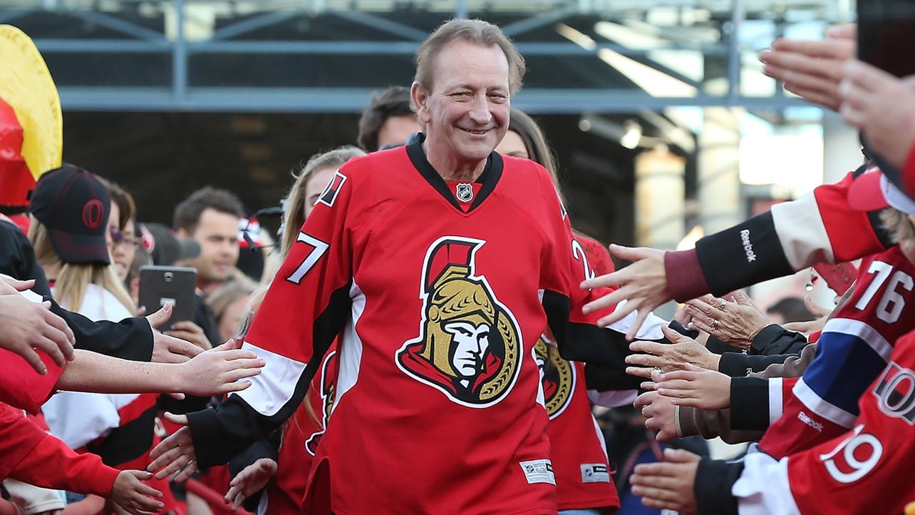
POLYGON ((583 267, 546 170, 492 153, 478 182, 452 191, 419 142, 335 174, 246 338, 264 372, 188 417, 201 466, 290 417, 340 334, 307 492, 327 504, 311 509, 555 512, 533 347, 549 323, 564 356, 623 369, 628 327, 582 314, 605 291, 578 287, 583 267))

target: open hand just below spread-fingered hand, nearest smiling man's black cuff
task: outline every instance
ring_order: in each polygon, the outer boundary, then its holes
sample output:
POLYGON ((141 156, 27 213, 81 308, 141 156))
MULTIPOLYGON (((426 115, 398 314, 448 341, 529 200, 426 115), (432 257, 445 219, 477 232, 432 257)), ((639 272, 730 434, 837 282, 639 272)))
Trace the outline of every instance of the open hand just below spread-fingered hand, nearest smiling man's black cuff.
POLYGON ((660 368, 662 372, 670 372, 682 370, 688 364, 710 370, 718 369, 718 360, 721 356, 709 351, 689 336, 677 333, 670 327, 662 327, 662 332, 672 342, 671 344, 659 344, 656 342, 632 342, 630 344, 632 352, 648 354, 630 354, 626 356, 627 365, 635 365, 635 367, 626 367, 627 374, 640 378, 651 378, 652 368, 660 368))

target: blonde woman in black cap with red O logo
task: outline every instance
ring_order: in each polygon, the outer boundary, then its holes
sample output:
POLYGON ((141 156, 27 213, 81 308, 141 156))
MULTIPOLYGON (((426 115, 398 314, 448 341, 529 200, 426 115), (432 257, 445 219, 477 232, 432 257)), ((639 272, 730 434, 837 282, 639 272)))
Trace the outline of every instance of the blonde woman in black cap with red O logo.
MULTIPOLYGON (((93 321, 120 321, 135 306, 112 264, 109 226, 120 216, 101 181, 64 165, 41 177, 32 195, 29 240, 48 276, 54 299, 93 321)), ((85 447, 117 468, 145 466, 154 444, 155 394, 106 395, 61 392, 42 407, 51 433, 72 449, 85 447), (100 439, 104 437, 103 439, 100 439)), ((174 508, 167 484, 166 511, 174 508)), ((81 500, 72 513, 95 513, 103 499, 81 500)))

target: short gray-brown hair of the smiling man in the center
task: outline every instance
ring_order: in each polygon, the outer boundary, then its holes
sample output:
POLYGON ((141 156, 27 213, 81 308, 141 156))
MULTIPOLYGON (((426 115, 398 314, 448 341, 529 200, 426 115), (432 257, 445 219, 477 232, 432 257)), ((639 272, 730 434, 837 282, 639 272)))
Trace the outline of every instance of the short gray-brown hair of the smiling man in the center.
POLYGON ((498 46, 505 54, 505 59, 509 61, 511 94, 518 93, 526 71, 524 58, 511 40, 502 33, 501 28, 481 19, 450 19, 425 38, 416 50, 414 82, 419 82, 425 91, 432 91, 433 64, 436 56, 448 43, 456 39, 463 39, 480 47, 498 46))

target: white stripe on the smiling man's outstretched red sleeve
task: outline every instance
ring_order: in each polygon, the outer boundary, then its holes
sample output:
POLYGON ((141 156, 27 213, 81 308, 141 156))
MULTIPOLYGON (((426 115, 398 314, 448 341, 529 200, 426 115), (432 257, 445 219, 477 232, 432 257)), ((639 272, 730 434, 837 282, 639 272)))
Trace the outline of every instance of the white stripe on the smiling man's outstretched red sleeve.
POLYGON ((251 381, 248 389, 232 395, 241 397, 258 413, 272 417, 292 399, 298 378, 305 371, 306 364, 248 342, 242 345, 242 349, 253 351, 266 362, 266 366, 260 375, 243 379, 251 381))

